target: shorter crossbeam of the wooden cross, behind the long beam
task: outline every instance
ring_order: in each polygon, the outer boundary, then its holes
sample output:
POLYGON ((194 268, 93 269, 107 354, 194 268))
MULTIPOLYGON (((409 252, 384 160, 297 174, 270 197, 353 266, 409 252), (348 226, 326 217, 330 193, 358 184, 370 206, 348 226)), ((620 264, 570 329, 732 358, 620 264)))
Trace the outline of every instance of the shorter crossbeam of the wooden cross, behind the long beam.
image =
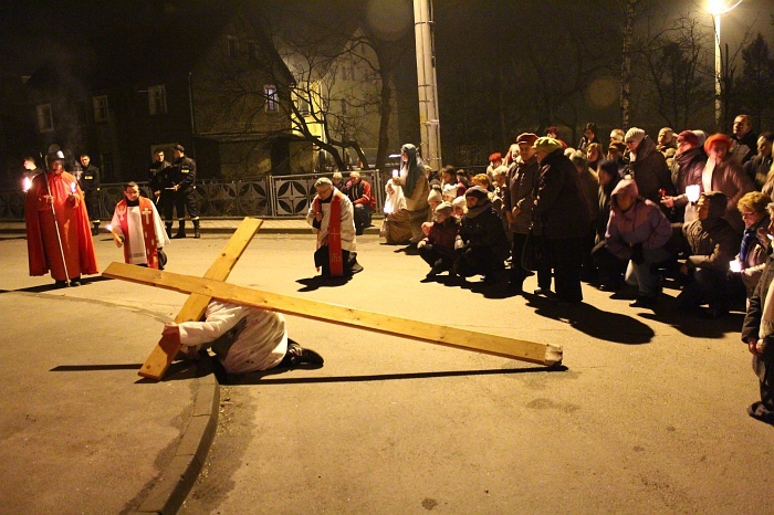
MULTIPOLYGON (((245 218, 242 220, 242 223, 239 224, 237 231, 231 235, 226 246, 223 246, 223 250, 220 251, 220 254, 209 267, 205 277, 211 281, 226 281, 231 270, 233 270, 237 264, 237 261, 239 261, 239 258, 241 258, 244 252, 244 249, 248 248, 250 241, 262 224, 263 220, 257 218, 245 218)), ((138 269, 139 266, 134 267, 138 269)), ((181 322, 201 319, 212 297, 209 295, 191 293, 182 305, 180 313, 175 317, 175 322, 179 324, 181 322)), ((178 350, 180 350, 179 340, 170 340, 166 337, 161 337, 137 374, 149 379, 160 380, 175 359, 178 350)))

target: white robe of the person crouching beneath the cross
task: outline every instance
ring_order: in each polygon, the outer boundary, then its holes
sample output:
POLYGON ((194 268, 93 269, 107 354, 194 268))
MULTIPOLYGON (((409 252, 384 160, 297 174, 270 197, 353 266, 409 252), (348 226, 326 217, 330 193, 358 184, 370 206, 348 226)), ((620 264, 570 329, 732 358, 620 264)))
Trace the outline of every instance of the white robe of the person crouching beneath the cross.
POLYGON ((285 317, 258 307, 212 301, 205 322, 184 322, 179 327, 180 344, 197 350, 223 336, 212 350, 229 374, 268 370, 287 353, 285 317), (233 334, 227 335, 232 329, 233 334))

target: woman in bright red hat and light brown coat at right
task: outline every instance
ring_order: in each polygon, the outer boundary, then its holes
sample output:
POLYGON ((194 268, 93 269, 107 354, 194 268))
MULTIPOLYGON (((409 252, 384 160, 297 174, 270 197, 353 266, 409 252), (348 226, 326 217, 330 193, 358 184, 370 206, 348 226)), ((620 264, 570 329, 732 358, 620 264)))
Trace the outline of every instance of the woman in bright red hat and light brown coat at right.
POLYGON ((725 216, 723 217, 736 231, 744 232, 744 222, 736 208, 744 195, 753 191, 755 186, 742 170, 742 166, 729 153, 732 140, 724 134, 713 134, 704 141, 707 165, 701 174, 702 191, 722 191, 726 199, 725 216))

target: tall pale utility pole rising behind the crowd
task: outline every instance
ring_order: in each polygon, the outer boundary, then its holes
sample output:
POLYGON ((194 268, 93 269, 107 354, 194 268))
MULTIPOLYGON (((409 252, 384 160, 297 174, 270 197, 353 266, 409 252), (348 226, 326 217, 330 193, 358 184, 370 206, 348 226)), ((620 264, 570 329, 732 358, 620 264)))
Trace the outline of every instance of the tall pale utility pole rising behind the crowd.
POLYGON ((419 128, 422 160, 438 171, 441 168, 441 132, 438 117, 438 85, 432 44, 431 0, 414 0, 414 32, 417 40, 417 83, 419 87, 419 128))

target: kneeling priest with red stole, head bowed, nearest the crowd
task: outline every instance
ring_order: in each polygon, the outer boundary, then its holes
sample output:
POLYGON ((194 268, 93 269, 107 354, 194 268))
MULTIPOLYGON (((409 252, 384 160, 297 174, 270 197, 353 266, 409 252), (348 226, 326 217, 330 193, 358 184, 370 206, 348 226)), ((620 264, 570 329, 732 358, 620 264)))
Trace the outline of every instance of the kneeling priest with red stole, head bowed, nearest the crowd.
POLYGON ((312 200, 306 222, 317 233, 314 264, 322 275, 344 276, 363 271, 357 263, 354 209, 352 201, 322 177, 314 183, 317 195, 312 200))

